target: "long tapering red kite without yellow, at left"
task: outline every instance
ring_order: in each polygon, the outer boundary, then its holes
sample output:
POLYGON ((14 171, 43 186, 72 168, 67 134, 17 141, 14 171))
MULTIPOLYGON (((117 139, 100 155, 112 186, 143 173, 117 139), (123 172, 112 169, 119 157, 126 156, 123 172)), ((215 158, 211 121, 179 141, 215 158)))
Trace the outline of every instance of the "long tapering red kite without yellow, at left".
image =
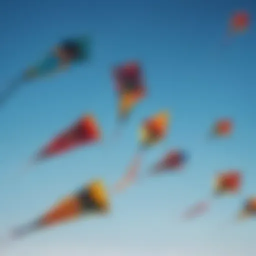
POLYGON ((100 129, 92 115, 83 115, 65 131, 55 136, 32 157, 30 164, 49 157, 66 153, 79 146, 89 145, 100 140, 100 129))

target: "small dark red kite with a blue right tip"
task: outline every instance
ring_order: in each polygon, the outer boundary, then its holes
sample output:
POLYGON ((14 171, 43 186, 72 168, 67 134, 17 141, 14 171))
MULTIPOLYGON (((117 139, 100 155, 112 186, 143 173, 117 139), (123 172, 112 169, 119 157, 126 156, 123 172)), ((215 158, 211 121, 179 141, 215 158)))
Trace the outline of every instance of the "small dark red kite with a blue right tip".
POLYGON ((180 170, 187 158, 187 154, 183 150, 171 150, 153 166, 152 172, 180 170))

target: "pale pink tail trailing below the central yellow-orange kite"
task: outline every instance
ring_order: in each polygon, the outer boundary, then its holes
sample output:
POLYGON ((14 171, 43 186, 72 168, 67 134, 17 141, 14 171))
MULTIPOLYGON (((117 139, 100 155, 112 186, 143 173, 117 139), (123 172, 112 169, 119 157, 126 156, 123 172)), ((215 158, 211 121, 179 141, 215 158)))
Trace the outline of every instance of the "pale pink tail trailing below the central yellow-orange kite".
POLYGON ((113 192, 121 192, 126 187, 128 187, 132 182, 134 182, 138 177, 138 171, 140 168, 140 164, 142 161, 142 150, 139 150, 135 157, 133 158, 133 161, 128 168, 127 172, 124 174, 122 178, 118 182, 115 183, 113 187, 113 192))

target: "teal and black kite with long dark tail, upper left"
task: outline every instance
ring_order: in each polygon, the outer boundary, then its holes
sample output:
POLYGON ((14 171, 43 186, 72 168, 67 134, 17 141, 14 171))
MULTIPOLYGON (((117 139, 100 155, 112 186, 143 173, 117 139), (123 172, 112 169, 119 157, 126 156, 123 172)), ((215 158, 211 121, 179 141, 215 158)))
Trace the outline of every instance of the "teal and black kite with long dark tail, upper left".
POLYGON ((89 42, 85 36, 63 40, 52 49, 39 63, 27 68, 20 77, 13 80, 5 89, 0 91, 0 106, 15 92, 23 83, 37 77, 56 73, 64 70, 72 64, 88 59, 89 42))

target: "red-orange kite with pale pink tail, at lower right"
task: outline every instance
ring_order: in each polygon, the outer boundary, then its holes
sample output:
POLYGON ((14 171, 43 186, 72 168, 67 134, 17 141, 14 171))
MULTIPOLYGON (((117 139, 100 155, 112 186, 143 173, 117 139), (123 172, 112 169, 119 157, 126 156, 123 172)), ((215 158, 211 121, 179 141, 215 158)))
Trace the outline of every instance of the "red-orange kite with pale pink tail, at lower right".
POLYGON ((202 201, 191 207, 184 213, 185 219, 191 219, 209 209, 212 199, 224 194, 236 194, 241 187, 242 176, 238 170, 228 170, 218 173, 214 178, 213 195, 210 200, 202 201))

